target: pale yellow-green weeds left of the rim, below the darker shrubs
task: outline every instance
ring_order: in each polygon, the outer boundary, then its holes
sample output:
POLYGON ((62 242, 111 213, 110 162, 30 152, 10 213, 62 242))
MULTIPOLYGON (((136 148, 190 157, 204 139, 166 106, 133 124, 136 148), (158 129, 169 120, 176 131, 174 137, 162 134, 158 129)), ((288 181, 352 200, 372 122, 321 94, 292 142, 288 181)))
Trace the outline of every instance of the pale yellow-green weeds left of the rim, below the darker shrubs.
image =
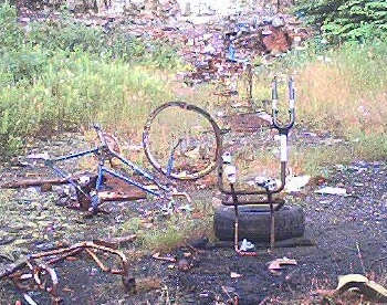
POLYGON ((95 120, 126 133, 140 129, 150 108, 171 96, 158 73, 82 51, 53 55, 32 83, 0 88, 1 155, 12 154, 29 136, 95 120))

